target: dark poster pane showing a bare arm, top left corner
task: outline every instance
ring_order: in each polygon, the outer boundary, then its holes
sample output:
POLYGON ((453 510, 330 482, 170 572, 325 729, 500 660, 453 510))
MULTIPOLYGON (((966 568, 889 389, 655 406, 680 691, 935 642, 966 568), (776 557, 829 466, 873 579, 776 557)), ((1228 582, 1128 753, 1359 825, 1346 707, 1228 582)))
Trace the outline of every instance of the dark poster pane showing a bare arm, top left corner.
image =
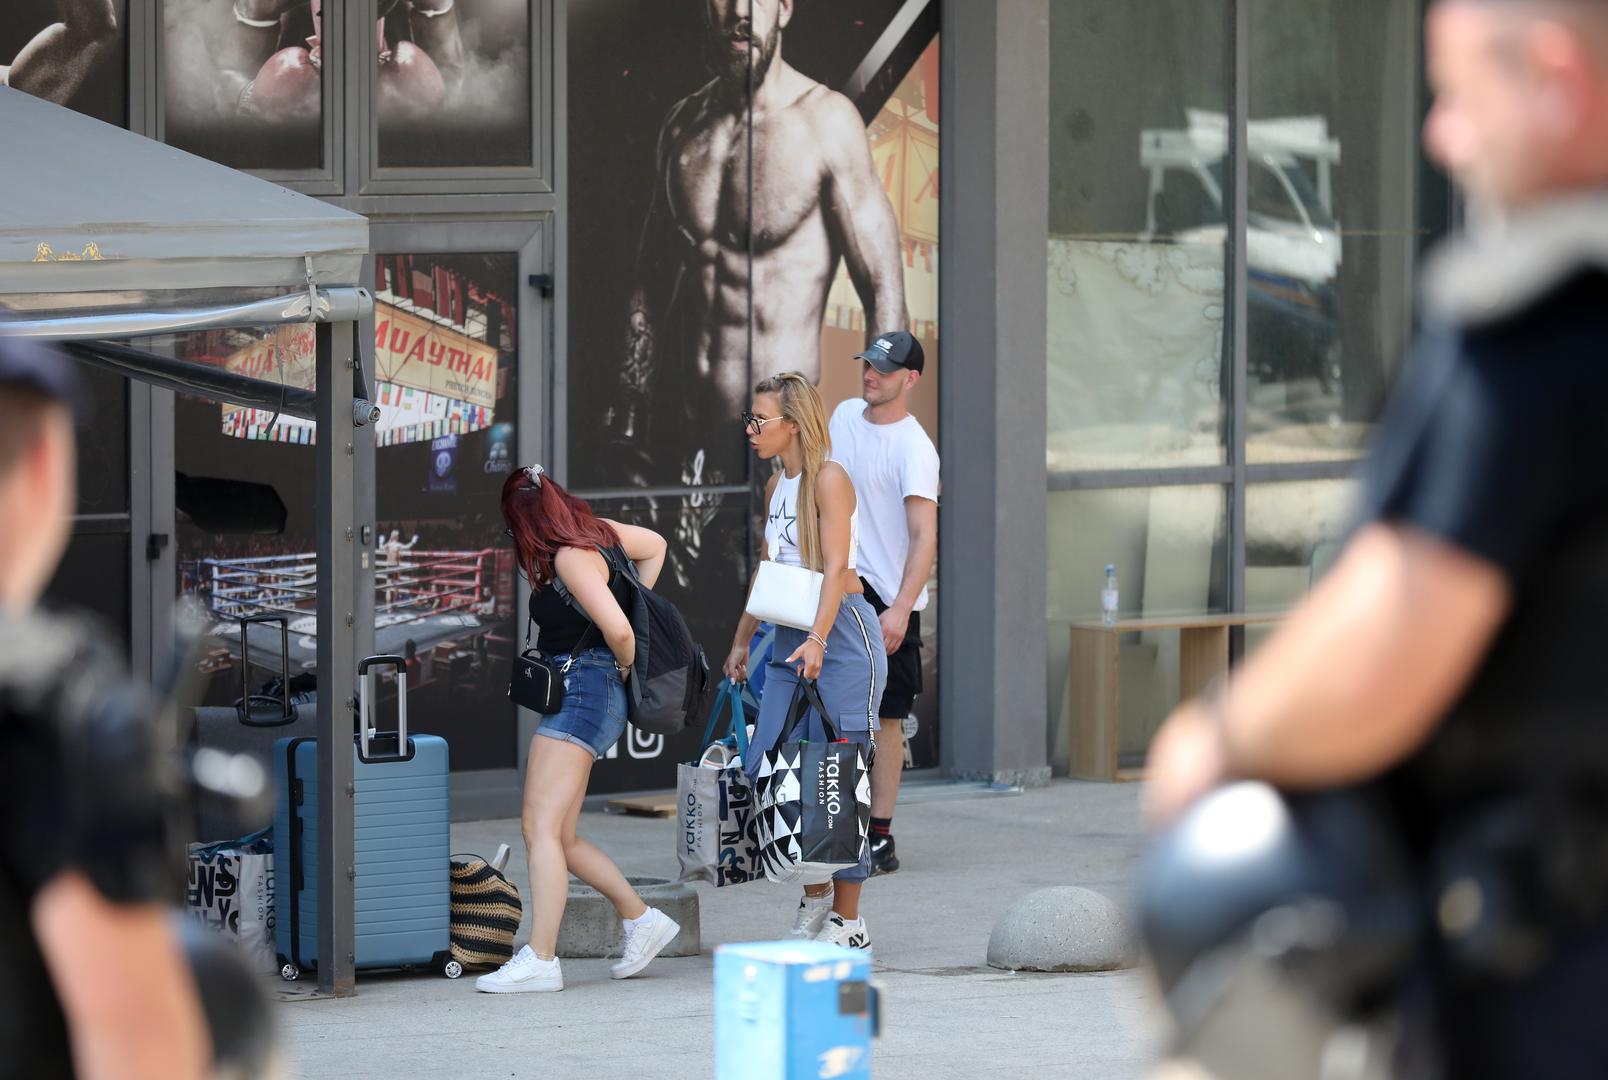
POLYGON ((129 122, 127 0, 0 3, 0 87, 129 122))

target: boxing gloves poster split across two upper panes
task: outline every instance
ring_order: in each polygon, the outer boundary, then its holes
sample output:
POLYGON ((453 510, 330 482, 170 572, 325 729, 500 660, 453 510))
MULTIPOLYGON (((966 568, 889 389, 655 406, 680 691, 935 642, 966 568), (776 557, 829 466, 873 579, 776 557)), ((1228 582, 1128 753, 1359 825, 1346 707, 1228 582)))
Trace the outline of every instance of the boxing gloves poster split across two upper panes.
MULTIPOLYGON (((323 98, 343 85, 336 0, 164 0, 167 141, 236 169, 318 169, 323 98)), ((526 0, 376 0, 381 167, 531 161, 526 0)), ((368 72, 362 72, 367 76, 368 72)))

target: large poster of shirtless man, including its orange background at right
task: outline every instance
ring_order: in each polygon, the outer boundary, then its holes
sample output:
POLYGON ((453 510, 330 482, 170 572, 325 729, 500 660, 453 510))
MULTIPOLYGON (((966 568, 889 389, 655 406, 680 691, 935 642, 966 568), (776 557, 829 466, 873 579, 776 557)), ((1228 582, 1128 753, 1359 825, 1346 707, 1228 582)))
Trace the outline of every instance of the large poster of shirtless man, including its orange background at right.
MULTIPOLYGON (((754 527, 748 497, 699 489, 762 482, 738 426, 756 381, 806 371, 831 410, 859 395, 854 354, 910 329, 937 439, 937 6, 569 8, 569 482, 659 489, 630 505, 711 656, 754 527)), ((923 624, 913 763, 933 765, 936 591, 923 624)))

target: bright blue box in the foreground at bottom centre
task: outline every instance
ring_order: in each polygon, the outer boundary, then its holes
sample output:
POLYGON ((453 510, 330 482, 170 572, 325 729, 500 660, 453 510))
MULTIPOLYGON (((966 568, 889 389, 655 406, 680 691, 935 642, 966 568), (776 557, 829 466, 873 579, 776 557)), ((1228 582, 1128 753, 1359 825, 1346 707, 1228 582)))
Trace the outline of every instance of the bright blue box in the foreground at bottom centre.
POLYGON ((716 1080, 872 1075, 872 958, 822 942, 722 945, 714 953, 716 1080))

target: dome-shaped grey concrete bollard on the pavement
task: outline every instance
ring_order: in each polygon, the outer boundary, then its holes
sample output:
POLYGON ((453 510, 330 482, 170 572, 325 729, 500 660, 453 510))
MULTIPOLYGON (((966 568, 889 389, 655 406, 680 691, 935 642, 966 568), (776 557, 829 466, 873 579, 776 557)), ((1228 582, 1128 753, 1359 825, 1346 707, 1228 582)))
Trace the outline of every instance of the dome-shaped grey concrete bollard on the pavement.
POLYGON ((1121 908, 1076 886, 1023 897, 989 935, 989 966, 1005 971, 1116 971, 1137 963, 1138 940, 1121 908))

